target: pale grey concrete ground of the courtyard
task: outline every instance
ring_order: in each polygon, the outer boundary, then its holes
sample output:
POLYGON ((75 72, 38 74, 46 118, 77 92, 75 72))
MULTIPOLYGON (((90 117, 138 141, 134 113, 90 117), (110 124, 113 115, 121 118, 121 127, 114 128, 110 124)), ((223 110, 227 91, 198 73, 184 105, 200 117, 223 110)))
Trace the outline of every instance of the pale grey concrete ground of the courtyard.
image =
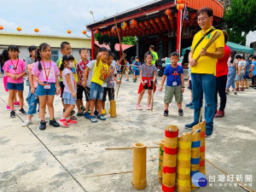
MULTIPOLYGON (((160 79, 159 79, 160 82, 160 79)), ((159 84, 157 84, 159 88, 159 84)), ((130 192, 132 173, 96 177, 97 174, 132 171, 132 150, 105 150, 131 147, 133 143, 155 146, 164 138, 167 125, 177 125, 179 135, 186 132, 183 125, 192 122, 193 110, 183 107, 183 117, 177 115, 172 102, 168 117, 163 116, 164 91, 154 94, 154 112, 147 111, 147 95, 143 97, 143 111, 137 111, 138 82, 123 82, 116 98, 117 118, 92 124, 79 117, 78 125, 54 128, 47 125, 38 130, 38 115, 28 127, 21 127, 26 116, 9 118, 6 111, 8 93, 0 79, 0 191, 90 191, 130 192)), ((28 89, 24 91, 27 96, 28 89)), ((206 157, 225 172, 239 177, 243 183, 256 189, 256 90, 250 88, 235 96, 228 95, 225 117, 214 119, 214 131, 206 141, 206 157), (252 181, 251 181, 252 180, 252 181)), ((185 89, 183 105, 190 93, 185 89)), ((109 108, 107 102, 107 111, 109 108)), ((61 117, 59 96, 55 97, 55 118, 61 117)), ((27 110, 27 103, 25 105, 27 110)), ((17 110, 16 110, 17 111, 17 110)), ((49 119, 49 113, 46 114, 49 119)), ((158 149, 148 149, 147 188, 143 191, 161 191, 158 183, 158 149)), ((245 191, 236 182, 227 182, 224 173, 206 162, 210 185, 197 191, 245 191), (215 182, 214 182, 215 179, 215 182)))

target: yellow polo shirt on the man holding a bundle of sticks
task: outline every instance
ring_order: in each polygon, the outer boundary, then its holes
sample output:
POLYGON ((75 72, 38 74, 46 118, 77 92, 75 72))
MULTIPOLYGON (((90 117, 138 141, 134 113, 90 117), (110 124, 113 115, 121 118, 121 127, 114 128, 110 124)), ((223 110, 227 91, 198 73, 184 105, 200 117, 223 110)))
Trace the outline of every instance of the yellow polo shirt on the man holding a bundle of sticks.
MULTIPOLYGON (((195 34, 195 37, 193 38, 192 46, 191 48, 194 50, 195 45, 200 41, 200 39, 205 35, 208 31, 210 31, 212 27, 210 27, 206 32, 200 31, 195 34)), ((197 46, 197 48, 194 50, 193 59, 196 59, 196 57, 200 54, 201 49, 205 48, 214 35, 215 32, 220 32, 221 36, 217 38, 214 43, 207 49, 207 52, 215 52, 218 48, 224 48, 224 34, 220 30, 215 30, 213 32, 210 32, 204 40, 201 41, 201 44, 197 46)), ((206 74, 216 74, 216 63, 217 58, 211 58, 209 56, 201 56, 200 59, 197 61, 197 64, 195 67, 191 67, 191 73, 206 73, 206 74)))

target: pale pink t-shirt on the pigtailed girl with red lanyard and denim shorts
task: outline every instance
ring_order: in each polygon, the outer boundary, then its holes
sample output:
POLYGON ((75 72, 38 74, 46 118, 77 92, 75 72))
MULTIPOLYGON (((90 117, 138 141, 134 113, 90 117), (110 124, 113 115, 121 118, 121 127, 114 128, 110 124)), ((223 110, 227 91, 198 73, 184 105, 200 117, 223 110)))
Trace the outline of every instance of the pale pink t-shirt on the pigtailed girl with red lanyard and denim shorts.
POLYGON ((32 68, 32 75, 35 75, 38 77, 43 82, 48 82, 48 83, 55 83, 56 82, 56 76, 60 75, 59 68, 57 67, 55 61, 49 61, 49 62, 42 62, 42 70, 39 71, 38 69, 38 63, 36 62, 34 67, 32 68), (48 80, 47 80, 48 76, 48 80))

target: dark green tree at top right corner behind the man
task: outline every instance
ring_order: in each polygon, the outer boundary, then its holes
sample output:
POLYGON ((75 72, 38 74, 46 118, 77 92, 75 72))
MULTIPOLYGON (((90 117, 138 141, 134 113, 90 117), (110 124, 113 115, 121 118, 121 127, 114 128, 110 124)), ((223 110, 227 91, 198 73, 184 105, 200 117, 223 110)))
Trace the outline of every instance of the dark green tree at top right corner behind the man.
POLYGON ((255 0, 231 1, 230 9, 224 11, 224 21, 228 26, 227 32, 231 42, 246 44, 247 34, 256 26, 255 10, 255 0))

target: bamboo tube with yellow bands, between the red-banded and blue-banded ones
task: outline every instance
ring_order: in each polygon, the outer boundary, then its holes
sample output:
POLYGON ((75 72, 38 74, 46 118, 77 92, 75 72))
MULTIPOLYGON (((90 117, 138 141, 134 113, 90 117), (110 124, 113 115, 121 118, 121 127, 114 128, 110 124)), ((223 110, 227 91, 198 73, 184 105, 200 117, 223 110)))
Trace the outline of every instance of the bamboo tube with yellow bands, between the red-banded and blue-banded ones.
POLYGON ((177 191, 191 191, 190 160, 192 134, 184 132, 177 142, 177 191))

